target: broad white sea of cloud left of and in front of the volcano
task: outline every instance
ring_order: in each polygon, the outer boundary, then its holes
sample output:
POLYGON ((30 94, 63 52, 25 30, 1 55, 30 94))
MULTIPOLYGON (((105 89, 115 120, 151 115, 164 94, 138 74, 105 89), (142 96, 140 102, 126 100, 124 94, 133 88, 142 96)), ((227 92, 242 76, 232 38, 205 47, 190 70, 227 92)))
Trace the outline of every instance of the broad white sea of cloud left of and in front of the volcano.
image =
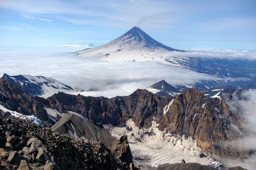
POLYGON ((158 62, 103 62, 70 53, 78 50, 56 47, 53 50, 2 51, 0 75, 52 77, 80 90, 100 90, 102 93, 99 95, 106 97, 129 95, 138 88, 148 88, 162 79, 172 85, 192 85, 213 79, 207 74, 158 62))

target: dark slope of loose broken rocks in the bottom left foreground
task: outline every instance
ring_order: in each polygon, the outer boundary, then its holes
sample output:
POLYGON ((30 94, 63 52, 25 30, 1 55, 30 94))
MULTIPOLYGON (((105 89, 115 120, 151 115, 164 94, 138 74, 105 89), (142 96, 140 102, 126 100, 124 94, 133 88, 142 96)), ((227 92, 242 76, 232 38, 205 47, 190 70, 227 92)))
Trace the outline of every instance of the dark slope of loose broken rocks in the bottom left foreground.
POLYGON ((0 142, 1 169, 129 168, 102 142, 61 135, 2 110, 0 142))

